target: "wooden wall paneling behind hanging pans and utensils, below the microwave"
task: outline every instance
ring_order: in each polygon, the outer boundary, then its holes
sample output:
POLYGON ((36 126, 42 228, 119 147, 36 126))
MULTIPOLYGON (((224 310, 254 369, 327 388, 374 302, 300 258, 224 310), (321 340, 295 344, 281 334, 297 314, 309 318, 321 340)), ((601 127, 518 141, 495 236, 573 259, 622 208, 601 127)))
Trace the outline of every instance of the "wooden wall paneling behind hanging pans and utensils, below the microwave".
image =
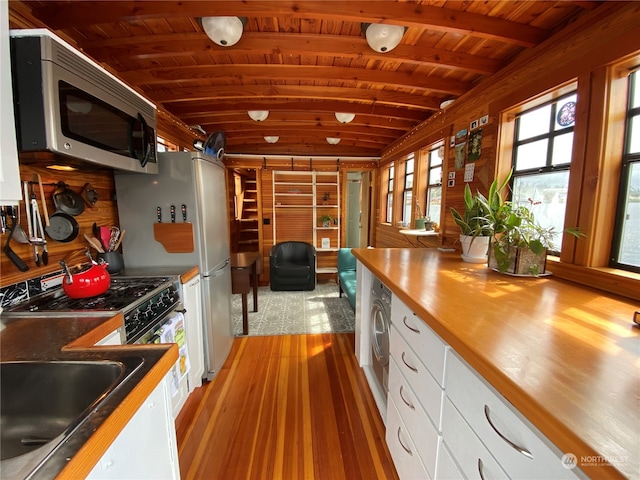
MULTIPOLYGON (((2 275, 0 276, 0 286, 11 285, 16 282, 28 280, 47 273, 60 270, 59 261, 68 254, 83 250, 88 247, 83 234, 92 234, 93 223, 98 225, 118 225, 118 209, 115 202, 115 182, 113 172, 109 170, 78 170, 75 172, 57 172, 44 167, 44 160, 51 159, 51 154, 36 154, 21 157, 20 177, 23 181, 30 181, 32 175, 40 174, 44 184, 44 191, 47 200, 47 208, 49 215, 55 212, 53 205, 53 191, 58 181, 64 181, 75 192, 80 193, 86 183, 90 183, 98 192, 98 201, 94 207, 85 205, 84 212, 75 219, 80 226, 78 237, 71 242, 58 242, 47 236, 47 251, 49 252, 49 264, 36 267, 33 256, 33 247, 28 244, 20 244, 15 240, 11 241, 11 248, 18 254, 22 260, 30 267, 26 272, 20 272, 7 256, 1 255, 2 261, 0 268, 2 275)), ((51 162, 48 162, 51 163, 51 162)), ((38 193, 37 185, 35 192, 38 196, 38 205, 42 213, 42 204, 38 193)), ((20 202, 21 225, 27 231, 27 219, 25 216, 24 202, 20 202)), ((44 219, 43 219, 44 223, 44 219)), ((7 240, 8 232, 2 235, 3 245, 7 240)), ((95 251, 92 254, 95 257, 95 251)))

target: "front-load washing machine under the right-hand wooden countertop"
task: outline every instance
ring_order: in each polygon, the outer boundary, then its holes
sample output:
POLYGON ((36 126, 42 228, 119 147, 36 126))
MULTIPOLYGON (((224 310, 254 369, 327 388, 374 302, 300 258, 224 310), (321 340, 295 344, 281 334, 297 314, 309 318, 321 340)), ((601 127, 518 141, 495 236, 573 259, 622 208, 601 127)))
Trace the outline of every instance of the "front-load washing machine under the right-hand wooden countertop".
POLYGON ((385 405, 389 390, 391 290, 374 277, 371 286, 371 367, 385 405))

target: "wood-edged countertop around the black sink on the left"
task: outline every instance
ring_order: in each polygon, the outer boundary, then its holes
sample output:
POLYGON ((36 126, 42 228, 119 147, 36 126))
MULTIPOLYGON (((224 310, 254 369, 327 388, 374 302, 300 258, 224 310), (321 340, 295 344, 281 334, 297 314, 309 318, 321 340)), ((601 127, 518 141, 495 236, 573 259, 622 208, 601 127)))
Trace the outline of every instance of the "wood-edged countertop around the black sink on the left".
POLYGON ((109 445, 178 359, 176 344, 93 345, 121 327, 122 314, 103 317, 0 316, 0 360, 119 360, 142 357, 142 366, 103 402, 89 422, 46 461, 34 478, 85 478, 109 445))

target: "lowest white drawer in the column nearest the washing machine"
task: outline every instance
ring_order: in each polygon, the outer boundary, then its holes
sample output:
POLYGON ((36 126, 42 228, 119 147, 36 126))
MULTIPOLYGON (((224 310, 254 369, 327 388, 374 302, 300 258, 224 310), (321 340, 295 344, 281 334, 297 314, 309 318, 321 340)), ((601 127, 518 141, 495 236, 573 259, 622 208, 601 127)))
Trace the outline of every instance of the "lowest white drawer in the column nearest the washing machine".
POLYGON ((400 480, 431 479, 417 453, 415 443, 390 400, 387 404, 387 447, 400 480))

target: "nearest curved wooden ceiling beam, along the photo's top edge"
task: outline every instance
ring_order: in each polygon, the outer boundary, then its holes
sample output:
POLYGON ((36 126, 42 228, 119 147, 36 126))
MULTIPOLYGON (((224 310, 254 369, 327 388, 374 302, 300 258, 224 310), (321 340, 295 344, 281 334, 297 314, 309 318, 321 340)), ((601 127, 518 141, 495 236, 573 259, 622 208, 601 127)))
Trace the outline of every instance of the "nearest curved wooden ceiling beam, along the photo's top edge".
POLYGON ((489 17, 456 9, 417 5, 412 2, 311 0, 247 2, 227 1, 110 1, 105 8, 96 8, 95 2, 74 1, 67 6, 42 6, 34 15, 50 28, 67 29, 76 25, 95 25, 121 20, 144 20, 181 15, 247 16, 335 19, 353 22, 384 22, 407 27, 457 32, 532 47, 542 41, 547 32, 529 25, 497 17, 489 17), (108 7, 106 7, 108 5, 108 7))

